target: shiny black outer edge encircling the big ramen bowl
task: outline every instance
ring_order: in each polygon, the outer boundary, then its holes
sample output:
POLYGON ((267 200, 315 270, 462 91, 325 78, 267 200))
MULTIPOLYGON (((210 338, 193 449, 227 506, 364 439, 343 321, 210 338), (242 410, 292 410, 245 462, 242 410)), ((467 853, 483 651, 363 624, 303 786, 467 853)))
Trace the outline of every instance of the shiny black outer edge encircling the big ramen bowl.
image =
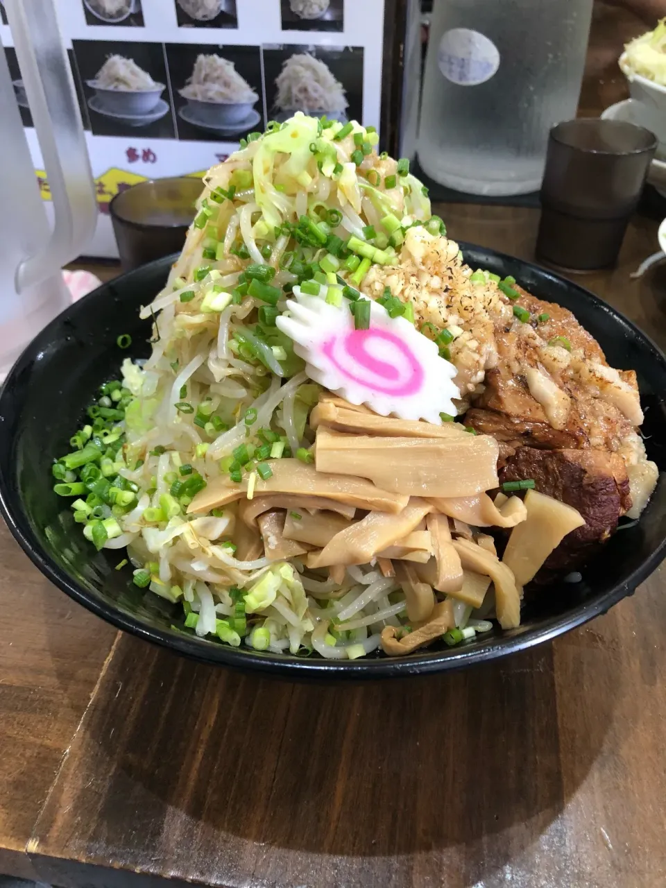
MULTIPOLYGON (((666 378, 666 358, 654 345, 654 342, 621 313, 615 311, 590 291, 571 281, 565 281, 559 275, 543 268, 497 253, 494 250, 485 250, 465 243, 461 243, 461 248, 464 251, 465 259, 472 266, 487 267, 491 270, 497 268, 499 269, 498 273, 513 274, 535 296, 548 298, 543 296, 543 285, 550 282, 555 289, 564 288, 575 297, 583 298, 588 305, 593 306, 595 311, 606 316, 607 323, 622 328, 625 336, 638 342, 641 348, 649 349, 655 366, 661 365, 661 372, 666 378)), ((28 558, 52 583, 66 592, 70 598, 112 623, 118 629, 131 632, 139 638, 175 650, 178 654, 183 654, 194 660, 226 665, 240 670, 269 673, 278 678, 342 680, 424 675, 443 670, 461 669, 480 662, 490 662, 526 650, 556 638, 568 630, 575 629, 595 616, 606 613, 618 601, 632 594, 666 556, 666 534, 664 534, 659 543, 654 546, 653 551, 621 582, 609 584, 602 593, 583 601, 563 614, 552 616, 532 628, 526 627, 516 630, 516 634, 497 630, 486 640, 479 637, 469 646, 412 654, 400 659, 368 658, 353 662, 302 659, 284 654, 259 654, 248 648, 234 649, 214 642, 206 642, 178 631, 151 626, 137 617, 125 613, 112 603, 99 598, 91 591, 87 591, 53 559, 44 544, 40 542, 35 528, 31 526, 17 479, 15 429, 7 427, 5 408, 11 400, 12 409, 16 408, 16 404, 13 403, 17 400, 15 392, 27 385, 25 377, 29 376, 36 358, 48 349, 49 344, 62 335, 63 328, 67 327, 67 323, 73 317, 82 312, 92 313, 92 305, 95 300, 106 297, 109 290, 122 292, 125 287, 140 279, 146 279, 148 283, 152 283, 153 289, 156 289, 165 279, 171 261, 173 261, 173 257, 159 259, 135 272, 116 278, 115 281, 102 285, 89 296, 84 297, 80 303, 68 307, 28 345, 11 369, 0 391, 0 513, 7 522, 12 535, 20 543, 23 551, 27 553, 28 558)), ((557 300, 551 299, 551 301, 557 300)), ((109 371, 111 370, 112 368, 109 369, 109 371)), ((20 423, 28 421, 29 417, 20 415, 20 423)), ((662 480, 660 480, 661 483, 662 480)))

